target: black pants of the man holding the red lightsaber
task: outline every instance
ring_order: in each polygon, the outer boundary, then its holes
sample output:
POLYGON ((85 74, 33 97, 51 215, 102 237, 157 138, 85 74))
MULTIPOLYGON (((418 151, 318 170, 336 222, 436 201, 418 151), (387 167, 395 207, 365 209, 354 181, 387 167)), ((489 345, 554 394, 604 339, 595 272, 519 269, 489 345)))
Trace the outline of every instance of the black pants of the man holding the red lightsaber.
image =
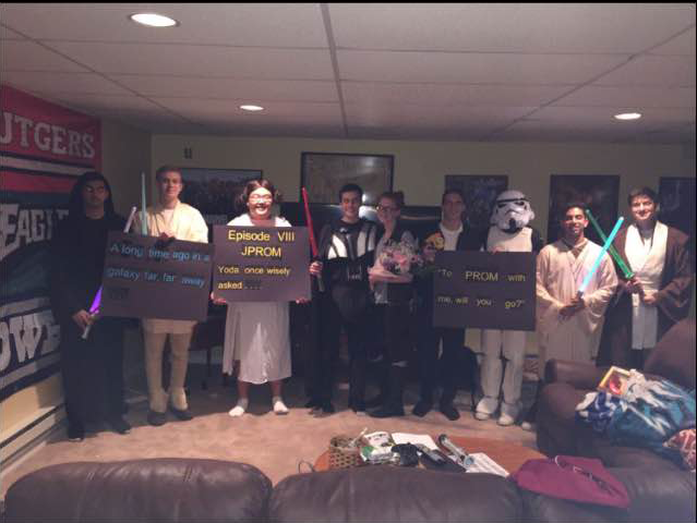
POLYGON ((348 337, 349 350, 349 401, 362 402, 365 396, 366 342, 370 332, 370 313, 347 321, 339 312, 329 292, 313 300, 315 336, 310 345, 308 392, 319 402, 332 401, 334 391, 334 366, 339 353, 341 327, 348 337))

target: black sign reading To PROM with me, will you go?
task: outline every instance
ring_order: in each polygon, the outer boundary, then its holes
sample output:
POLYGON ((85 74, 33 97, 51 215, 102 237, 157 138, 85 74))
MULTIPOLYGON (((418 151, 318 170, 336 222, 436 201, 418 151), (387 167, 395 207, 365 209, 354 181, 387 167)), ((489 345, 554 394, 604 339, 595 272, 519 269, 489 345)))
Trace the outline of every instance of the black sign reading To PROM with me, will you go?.
POLYGON ((534 330, 534 253, 440 252, 433 325, 534 330))

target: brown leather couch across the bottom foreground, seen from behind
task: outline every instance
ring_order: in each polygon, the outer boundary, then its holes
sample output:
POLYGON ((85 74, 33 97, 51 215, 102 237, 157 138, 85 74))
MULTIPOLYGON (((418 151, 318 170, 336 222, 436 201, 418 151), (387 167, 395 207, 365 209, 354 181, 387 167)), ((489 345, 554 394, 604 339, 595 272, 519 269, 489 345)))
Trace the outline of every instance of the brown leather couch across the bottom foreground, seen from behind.
MULTIPOLYGON (((64 463, 14 483, 5 496, 2 521, 694 521, 694 510, 692 519, 674 518, 673 492, 659 488, 664 485, 663 471, 612 472, 627 486, 628 511, 524 491, 490 474, 388 465, 297 474, 272 489, 261 471, 242 463, 197 459, 64 463)), ((694 475, 692 485, 694 492, 694 475)))

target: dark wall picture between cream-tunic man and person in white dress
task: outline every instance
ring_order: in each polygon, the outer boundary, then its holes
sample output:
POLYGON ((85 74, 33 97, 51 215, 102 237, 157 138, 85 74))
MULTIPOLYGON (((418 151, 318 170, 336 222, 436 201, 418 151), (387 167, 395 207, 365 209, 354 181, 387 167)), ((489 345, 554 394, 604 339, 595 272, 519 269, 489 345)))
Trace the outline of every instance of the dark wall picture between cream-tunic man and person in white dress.
POLYGON ((180 199, 201 211, 208 226, 224 224, 241 212, 237 198, 250 180, 261 180, 255 169, 182 168, 180 199))

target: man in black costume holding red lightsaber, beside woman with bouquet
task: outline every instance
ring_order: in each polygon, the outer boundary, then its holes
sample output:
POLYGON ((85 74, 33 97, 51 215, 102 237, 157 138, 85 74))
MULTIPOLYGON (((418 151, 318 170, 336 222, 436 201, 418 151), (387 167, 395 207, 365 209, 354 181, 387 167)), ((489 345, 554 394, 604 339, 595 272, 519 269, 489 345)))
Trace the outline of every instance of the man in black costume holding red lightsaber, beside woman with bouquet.
POLYGON ((339 348, 341 327, 349 349, 349 408, 365 412, 365 367, 370 321, 368 268, 373 265, 375 223, 360 218, 363 190, 356 184, 339 190, 341 218, 323 227, 320 258, 310 266, 312 275, 322 273, 325 292, 315 304, 320 326, 319 344, 313 344, 310 368, 310 401, 315 414, 332 414, 334 358, 339 348))

